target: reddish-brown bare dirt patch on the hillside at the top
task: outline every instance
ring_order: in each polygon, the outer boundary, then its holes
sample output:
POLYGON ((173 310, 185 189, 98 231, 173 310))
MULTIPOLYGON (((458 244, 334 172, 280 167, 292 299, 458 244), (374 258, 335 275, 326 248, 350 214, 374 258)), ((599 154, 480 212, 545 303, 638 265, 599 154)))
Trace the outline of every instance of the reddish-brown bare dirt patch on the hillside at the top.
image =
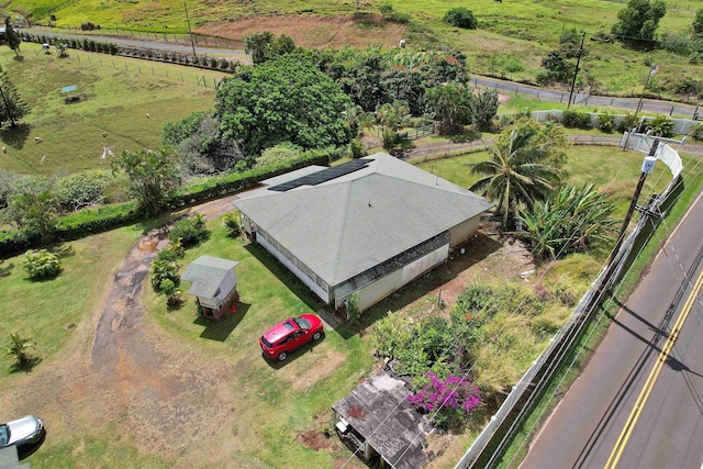
POLYGON ((381 44, 384 47, 397 46, 405 36, 406 26, 381 21, 380 15, 353 14, 336 16, 316 15, 276 15, 256 16, 199 27, 198 33, 210 34, 234 41, 244 41, 253 33, 270 31, 276 36, 286 34, 295 45, 302 47, 344 46, 366 47, 381 44))

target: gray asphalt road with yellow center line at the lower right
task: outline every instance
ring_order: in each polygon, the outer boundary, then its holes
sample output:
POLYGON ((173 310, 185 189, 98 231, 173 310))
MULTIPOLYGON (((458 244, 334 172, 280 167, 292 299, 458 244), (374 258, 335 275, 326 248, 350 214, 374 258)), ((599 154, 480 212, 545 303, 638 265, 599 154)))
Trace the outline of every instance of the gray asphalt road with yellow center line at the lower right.
MULTIPOLYGON (((702 220, 703 198, 699 197, 532 443, 523 469, 605 466, 690 286, 703 270, 702 220)), ((618 468, 701 468, 702 299, 699 294, 683 324, 618 468)))

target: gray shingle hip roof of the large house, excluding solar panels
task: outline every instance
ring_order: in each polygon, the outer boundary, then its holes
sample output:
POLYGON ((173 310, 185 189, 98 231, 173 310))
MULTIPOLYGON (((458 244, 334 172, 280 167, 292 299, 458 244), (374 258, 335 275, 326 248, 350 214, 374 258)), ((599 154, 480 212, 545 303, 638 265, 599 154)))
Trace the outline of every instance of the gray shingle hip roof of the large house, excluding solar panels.
MULTIPOLYGON (((257 190, 233 203, 330 286, 493 205, 388 154, 362 160, 368 165, 335 179, 287 191, 257 190)), ((275 182, 281 180, 290 179, 275 182)))

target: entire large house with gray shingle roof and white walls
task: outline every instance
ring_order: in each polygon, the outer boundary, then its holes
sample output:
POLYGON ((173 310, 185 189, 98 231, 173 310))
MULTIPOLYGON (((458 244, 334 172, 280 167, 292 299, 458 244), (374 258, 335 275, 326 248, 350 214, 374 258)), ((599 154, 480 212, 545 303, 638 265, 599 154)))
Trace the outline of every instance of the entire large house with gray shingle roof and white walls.
POLYGON ((493 206, 384 153, 263 183, 233 202, 244 231, 335 309, 356 293, 365 310, 446 261, 493 206))

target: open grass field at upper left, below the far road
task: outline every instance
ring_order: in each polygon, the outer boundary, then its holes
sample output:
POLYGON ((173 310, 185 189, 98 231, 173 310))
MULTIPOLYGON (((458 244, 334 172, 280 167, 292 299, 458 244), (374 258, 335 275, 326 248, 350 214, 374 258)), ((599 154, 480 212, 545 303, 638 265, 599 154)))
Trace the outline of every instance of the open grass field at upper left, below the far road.
POLYGON ((0 53, 0 66, 31 107, 24 125, 0 131, 7 147, 0 168, 14 172, 109 168, 110 158, 101 158, 104 145, 115 155, 138 146, 155 148, 166 122, 212 108, 214 82, 226 76, 77 51, 62 59, 32 43, 23 44, 22 53, 23 60, 7 48, 0 53), (64 102, 62 88, 70 85, 77 86, 72 94, 80 102, 64 102), (35 143, 35 137, 44 142, 35 143))

